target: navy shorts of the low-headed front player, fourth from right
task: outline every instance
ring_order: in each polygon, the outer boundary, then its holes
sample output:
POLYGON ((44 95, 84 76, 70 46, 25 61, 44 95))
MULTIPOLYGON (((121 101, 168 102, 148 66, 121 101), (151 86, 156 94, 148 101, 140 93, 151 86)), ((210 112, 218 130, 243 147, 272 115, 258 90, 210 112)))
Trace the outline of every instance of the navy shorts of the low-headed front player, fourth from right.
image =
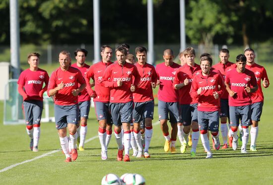
POLYGON ((198 111, 198 124, 200 130, 219 131, 219 111, 198 111))

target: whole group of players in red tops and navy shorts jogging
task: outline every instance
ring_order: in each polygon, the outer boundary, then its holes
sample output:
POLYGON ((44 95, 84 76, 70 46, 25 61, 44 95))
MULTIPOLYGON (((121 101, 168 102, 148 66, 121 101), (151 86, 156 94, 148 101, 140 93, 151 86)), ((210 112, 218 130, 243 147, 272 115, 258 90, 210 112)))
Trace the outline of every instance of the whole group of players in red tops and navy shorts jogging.
POLYGON ((117 61, 111 62, 112 48, 103 45, 100 50, 102 60, 91 66, 85 63, 88 53, 85 49, 74 52, 76 62, 73 64, 70 53, 62 51, 59 54, 60 67, 50 78, 38 67, 40 55, 29 54, 30 67, 20 74, 18 91, 23 96, 22 106, 32 151, 38 151, 43 93, 47 91, 55 103, 56 128, 66 162, 77 159, 77 140, 78 149, 84 150, 91 98, 99 123, 101 159, 108 159, 112 125, 118 144, 117 160, 130 161, 131 147, 136 158, 150 158, 148 149, 154 116, 152 88, 156 87, 158 118, 166 139, 165 152, 176 152, 178 136, 181 153, 186 153, 190 145, 190 155, 195 157, 201 135, 206 158, 212 158, 207 131, 211 133, 213 148, 218 150, 219 119, 223 149, 228 146, 237 149, 239 128, 241 153, 247 153, 248 127, 252 125, 250 150, 257 151, 258 122, 264 101, 261 80, 263 86, 268 87, 269 79, 265 68, 255 63, 252 49, 238 55, 236 63, 229 62, 229 51, 222 49, 220 62, 213 66, 209 54, 202 54, 200 65, 197 64, 195 50, 191 47, 179 54, 181 65, 173 62, 173 51, 166 49, 164 62, 154 67, 146 61, 146 48, 136 47, 137 61, 129 54, 129 48, 127 44, 118 46, 115 50, 117 61))

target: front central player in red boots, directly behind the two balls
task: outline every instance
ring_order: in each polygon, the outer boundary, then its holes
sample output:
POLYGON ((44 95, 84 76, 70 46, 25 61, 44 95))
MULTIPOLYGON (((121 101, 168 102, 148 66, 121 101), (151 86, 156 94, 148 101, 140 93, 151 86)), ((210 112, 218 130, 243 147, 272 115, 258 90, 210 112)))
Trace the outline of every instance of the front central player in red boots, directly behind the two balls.
POLYGON ((114 123, 115 137, 118 144, 118 161, 130 161, 129 149, 131 140, 130 123, 133 113, 133 93, 138 84, 136 65, 126 62, 127 50, 124 47, 116 49, 117 62, 106 68, 101 85, 110 88, 110 111, 114 123), (133 83, 133 77, 135 79, 133 83), (121 126, 124 129, 124 146, 122 143, 121 126))

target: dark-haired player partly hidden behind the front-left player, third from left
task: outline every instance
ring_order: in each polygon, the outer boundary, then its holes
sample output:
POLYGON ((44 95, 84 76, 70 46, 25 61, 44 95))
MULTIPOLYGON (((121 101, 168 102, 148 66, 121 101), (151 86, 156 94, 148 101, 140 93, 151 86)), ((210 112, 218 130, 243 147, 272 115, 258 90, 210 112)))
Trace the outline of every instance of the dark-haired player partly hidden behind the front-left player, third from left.
MULTIPOLYGON (((82 76, 85 75, 90 65, 85 63, 85 59, 88 52, 85 49, 76 49, 74 52, 76 63, 73 63, 71 66, 80 70, 82 76)), ((80 84, 79 84, 80 86, 80 84)), ((88 95, 86 89, 83 89, 78 96, 78 105, 79 105, 79 125, 77 128, 77 134, 79 141, 79 151, 84 150, 84 141, 87 133, 87 119, 90 111, 90 96, 88 95), (79 127, 80 126, 80 127, 79 127)))

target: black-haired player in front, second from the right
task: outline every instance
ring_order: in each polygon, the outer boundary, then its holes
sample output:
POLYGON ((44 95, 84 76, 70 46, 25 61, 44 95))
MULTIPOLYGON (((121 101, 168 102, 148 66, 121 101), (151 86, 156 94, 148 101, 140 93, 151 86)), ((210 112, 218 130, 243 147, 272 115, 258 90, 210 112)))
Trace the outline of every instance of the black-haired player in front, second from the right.
POLYGON ((248 126, 251 124, 251 93, 258 89, 254 72, 246 69, 246 57, 236 57, 236 68, 228 71, 225 77, 226 90, 229 94, 230 133, 233 137, 232 149, 238 147, 237 130, 239 120, 243 128, 241 153, 247 153, 246 145, 249 138, 248 126))

